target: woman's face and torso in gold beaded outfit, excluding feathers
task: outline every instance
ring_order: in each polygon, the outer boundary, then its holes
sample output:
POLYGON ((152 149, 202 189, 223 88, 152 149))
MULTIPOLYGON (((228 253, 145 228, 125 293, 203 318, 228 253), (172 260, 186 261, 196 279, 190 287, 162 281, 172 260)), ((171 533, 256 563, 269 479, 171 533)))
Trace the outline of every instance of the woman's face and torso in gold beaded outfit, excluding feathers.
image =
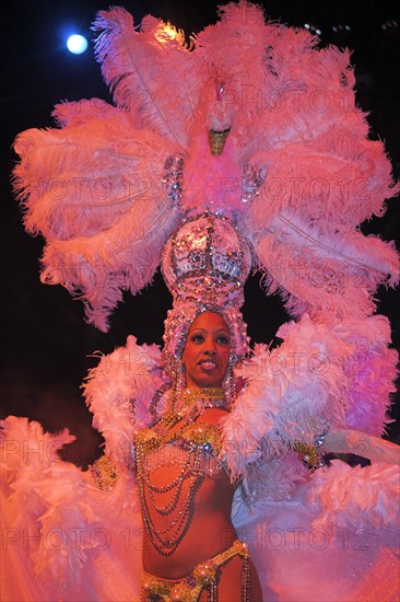
POLYGON ((176 402, 172 396, 151 429, 136 437, 149 600, 152 594, 175 600, 184 589, 192 592, 188 600, 262 600, 247 546, 238 542, 231 520, 234 485, 217 458, 219 422, 230 412, 223 391, 230 356, 225 320, 201 313, 183 354, 186 389, 176 402))

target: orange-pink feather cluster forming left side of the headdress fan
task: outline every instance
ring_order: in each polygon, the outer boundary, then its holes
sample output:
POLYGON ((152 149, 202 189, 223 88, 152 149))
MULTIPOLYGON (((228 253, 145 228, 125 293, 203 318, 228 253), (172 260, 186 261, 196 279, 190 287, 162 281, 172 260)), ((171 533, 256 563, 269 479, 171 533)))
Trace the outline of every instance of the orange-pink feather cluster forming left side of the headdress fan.
POLYGON ((82 297, 87 321, 106 331, 122 290, 152 280, 177 224, 162 182, 172 148, 106 103, 60 105, 55 116, 62 129, 16 139, 14 188, 26 229, 47 242, 42 280, 82 297))

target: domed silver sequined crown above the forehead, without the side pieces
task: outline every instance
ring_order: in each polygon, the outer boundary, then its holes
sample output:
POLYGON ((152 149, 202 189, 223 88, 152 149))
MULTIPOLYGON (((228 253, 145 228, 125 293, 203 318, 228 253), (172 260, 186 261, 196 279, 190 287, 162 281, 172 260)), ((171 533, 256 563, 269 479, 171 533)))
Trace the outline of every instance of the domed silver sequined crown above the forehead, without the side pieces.
POLYGON ((179 302, 210 306, 244 303, 243 286, 251 267, 251 253, 230 220, 204 213, 185 222, 167 242, 164 279, 179 302))

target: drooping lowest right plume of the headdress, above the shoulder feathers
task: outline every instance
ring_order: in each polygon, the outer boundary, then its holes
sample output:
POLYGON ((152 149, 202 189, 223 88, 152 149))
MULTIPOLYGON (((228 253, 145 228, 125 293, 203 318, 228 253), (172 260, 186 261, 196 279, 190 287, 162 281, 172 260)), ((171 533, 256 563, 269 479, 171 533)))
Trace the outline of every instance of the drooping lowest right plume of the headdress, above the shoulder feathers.
POLYGON ((370 314, 377 286, 399 281, 392 245, 349 228, 320 232, 294 211, 274 216, 255 250, 268 291, 281 291, 293 315, 306 309, 340 317, 370 314))

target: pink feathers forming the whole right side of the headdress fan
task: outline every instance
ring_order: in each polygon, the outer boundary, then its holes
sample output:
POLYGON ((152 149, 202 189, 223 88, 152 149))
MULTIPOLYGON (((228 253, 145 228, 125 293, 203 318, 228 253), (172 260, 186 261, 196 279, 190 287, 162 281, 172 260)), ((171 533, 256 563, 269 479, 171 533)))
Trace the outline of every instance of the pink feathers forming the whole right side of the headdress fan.
POLYGON ((356 228, 399 187, 355 106, 349 51, 318 49, 301 30, 270 36, 259 127, 244 155, 266 174, 249 230, 268 292, 279 290, 296 316, 369 314, 376 287, 398 282, 399 257, 356 228))

